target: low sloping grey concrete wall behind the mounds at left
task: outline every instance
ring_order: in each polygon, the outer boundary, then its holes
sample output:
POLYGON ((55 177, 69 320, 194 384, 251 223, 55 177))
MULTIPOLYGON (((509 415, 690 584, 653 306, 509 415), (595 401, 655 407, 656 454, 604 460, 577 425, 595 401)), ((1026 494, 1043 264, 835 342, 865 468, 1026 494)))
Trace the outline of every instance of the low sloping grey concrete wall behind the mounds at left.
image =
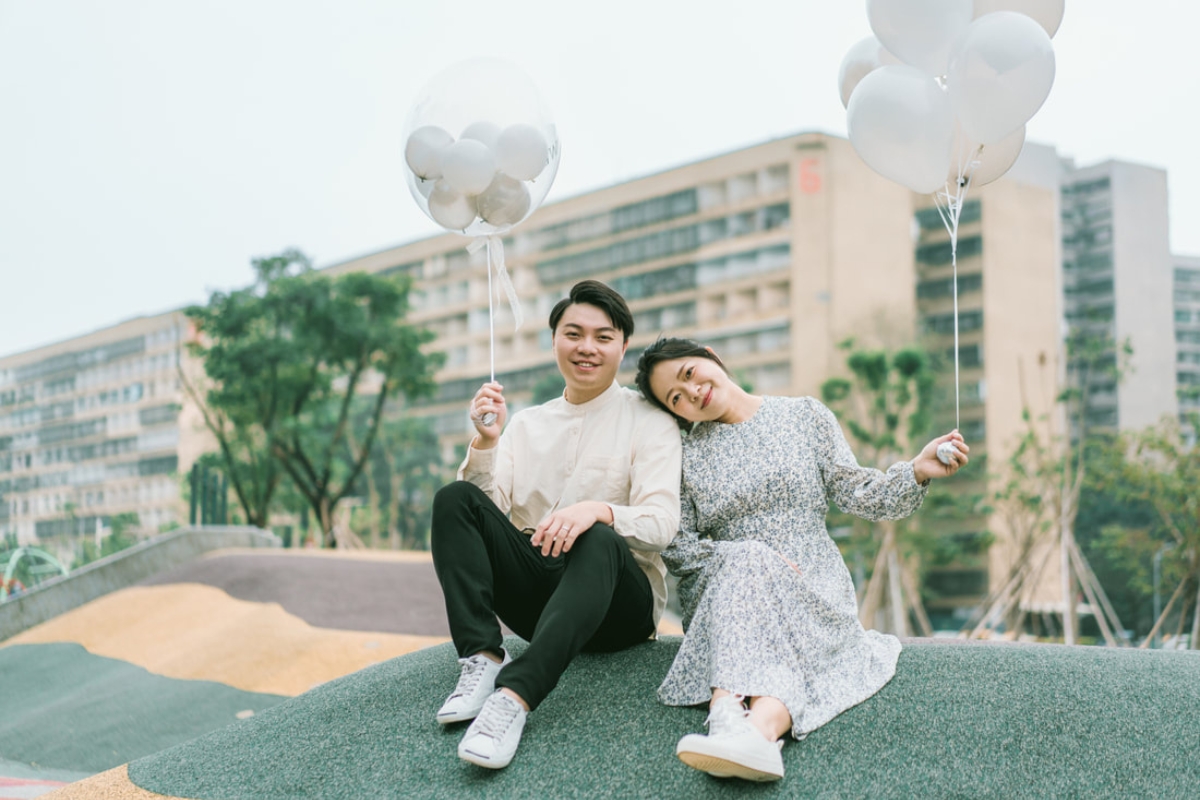
POLYGON ((226 547, 280 547, 280 540, 259 528, 233 525, 184 528, 148 539, 0 603, 0 642, 96 597, 226 547))

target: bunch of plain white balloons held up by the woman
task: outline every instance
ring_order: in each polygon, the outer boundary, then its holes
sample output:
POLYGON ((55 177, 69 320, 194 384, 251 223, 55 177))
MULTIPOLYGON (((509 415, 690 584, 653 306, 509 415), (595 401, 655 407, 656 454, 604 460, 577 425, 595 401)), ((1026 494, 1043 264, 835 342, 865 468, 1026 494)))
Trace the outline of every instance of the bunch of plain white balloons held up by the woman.
POLYGON ((866 0, 874 36, 838 78, 854 150, 920 193, 1003 175, 1054 84, 1063 2, 866 0))

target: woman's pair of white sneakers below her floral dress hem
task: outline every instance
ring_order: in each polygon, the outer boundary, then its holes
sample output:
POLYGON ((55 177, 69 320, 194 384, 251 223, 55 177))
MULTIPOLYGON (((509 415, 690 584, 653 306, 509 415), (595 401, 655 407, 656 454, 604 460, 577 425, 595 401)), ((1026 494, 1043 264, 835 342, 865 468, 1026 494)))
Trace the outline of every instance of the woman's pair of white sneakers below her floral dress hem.
POLYGON ((718 699, 708 714, 708 735, 689 734, 679 740, 676 756, 688 766, 713 777, 778 781, 784 777, 784 741, 767 741, 749 720, 742 698, 718 699))

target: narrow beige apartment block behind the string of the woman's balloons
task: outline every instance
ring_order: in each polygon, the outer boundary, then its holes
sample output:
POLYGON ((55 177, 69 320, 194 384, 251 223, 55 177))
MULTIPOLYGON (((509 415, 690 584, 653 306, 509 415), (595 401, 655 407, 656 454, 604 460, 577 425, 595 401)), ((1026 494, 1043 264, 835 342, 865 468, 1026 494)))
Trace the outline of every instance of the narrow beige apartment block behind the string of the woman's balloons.
MULTIPOLYGON (((1022 410, 1043 435, 1051 425, 1060 372, 1062 302, 1058 163, 1052 148, 1030 144, 1008 176, 972 188, 959 217, 958 247, 932 198, 918 200, 916 307, 920 341, 937 359, 937 429, 958 425, 972 465, 954 480, 960 497, 990 497, 989 470, 1002 471, 1025 433, 1022 410), (953 259, 953 260, 952 260, 953 259), (958 266, 959 402, 954 392, 954 260, 958 266)), ((926 575, 935 626, 956 628, 962 614, 1004 581, 1020 533, 1002 513, 962 513, 938 533, 964 555, 926 575), (995 536, 988 549, 974 542, 995 536)), ((1054 579, 1046 575, 1046 585, 1054 579)), ((1045 593, 1037 593, 1038 599, 1045 593)))

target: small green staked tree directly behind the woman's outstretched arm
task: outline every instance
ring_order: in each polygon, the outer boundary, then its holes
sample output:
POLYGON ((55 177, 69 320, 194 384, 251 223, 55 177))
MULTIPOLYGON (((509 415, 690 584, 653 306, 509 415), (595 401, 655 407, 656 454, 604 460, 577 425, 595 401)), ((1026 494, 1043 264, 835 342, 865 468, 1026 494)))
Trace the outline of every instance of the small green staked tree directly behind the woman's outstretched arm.
MULTIPOLYGON (((848 354, 850 378, 830 378, 822 384, 821 397, 850 431, 860 462, 887 469, 911 457, 913 441, 929 428, 934 390, 929 357, 916 347, 895 351, 860 349, 854 339, 839 347, 848 354)), ((874 557, 859 608, 863 624, 906 634, 911 618, 922 633, 930 636, 932 627, 920 600, 914 565, 928 543, 923 547, 919 534, 906 537, 908 527, 890 521, 868 523, 854 518, 851 528, 854 536, 850 548, 874 557)))

